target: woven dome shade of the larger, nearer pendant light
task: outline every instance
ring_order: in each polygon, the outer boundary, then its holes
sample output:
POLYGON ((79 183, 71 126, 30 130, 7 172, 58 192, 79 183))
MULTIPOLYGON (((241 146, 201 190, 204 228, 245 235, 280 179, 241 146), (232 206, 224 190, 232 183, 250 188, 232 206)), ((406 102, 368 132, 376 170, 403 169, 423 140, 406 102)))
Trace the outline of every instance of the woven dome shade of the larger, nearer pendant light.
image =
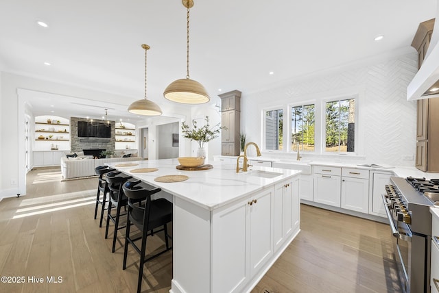
POLYGON ((202 104, 210 101, 206 89, 198 81, 189 78, 171 82, 163 92, 169 101, 184 104, 202 104))

